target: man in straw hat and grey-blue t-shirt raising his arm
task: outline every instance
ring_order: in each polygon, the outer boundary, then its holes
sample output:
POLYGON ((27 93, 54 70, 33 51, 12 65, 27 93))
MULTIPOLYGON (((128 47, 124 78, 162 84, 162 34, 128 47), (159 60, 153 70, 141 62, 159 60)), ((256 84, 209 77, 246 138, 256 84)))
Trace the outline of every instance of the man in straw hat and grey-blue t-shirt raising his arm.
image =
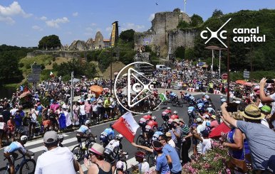
POLYGON ((275 132, 261 124, 264 114, 255 104, 249 104, 244 112, 244 121, 233 119, 227 112, 227 103, 222 104, 222 116, 232 126, 240 129, 246 136, 251 150, 252 166, 256 173, 275 168, 275 132), (273 159, 272 159, 273 158, 273 159))

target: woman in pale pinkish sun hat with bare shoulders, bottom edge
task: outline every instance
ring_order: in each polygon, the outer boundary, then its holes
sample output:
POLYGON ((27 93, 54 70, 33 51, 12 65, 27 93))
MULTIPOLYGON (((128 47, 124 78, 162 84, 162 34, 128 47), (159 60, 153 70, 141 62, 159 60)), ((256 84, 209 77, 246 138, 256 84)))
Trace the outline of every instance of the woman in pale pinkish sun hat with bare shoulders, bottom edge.
POLYGON ((93 146, 89 149, 90 160, 92 163, 90 164, 90 161, 88 161, 86 158, 84 159, 85 166, 88 168, 88 174, 112 174, 111 165, 107 161, 104 161, 103 152, 103 146, 98 143, 94 143, 93 146))

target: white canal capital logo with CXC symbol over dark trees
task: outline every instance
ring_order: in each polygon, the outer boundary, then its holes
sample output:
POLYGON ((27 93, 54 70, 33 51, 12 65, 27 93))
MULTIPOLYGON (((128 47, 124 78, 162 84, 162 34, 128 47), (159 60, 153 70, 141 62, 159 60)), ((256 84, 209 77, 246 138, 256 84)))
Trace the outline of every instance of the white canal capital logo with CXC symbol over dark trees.
MULTIPOLYGON (((231 20, 229 18, 217 31, 211 31, 208 27, 207 30, 210 31, 211 36, 208 38, 207 36, 204 36, 204 33, 208 33, 208 31, 202 31, 200 33, 200 37, 205 39, 208 39, 205 44, 209 42, 212 38, 217 38, 222 45, 224 45, 225 48, 227 48, 227 45, 222 42, 221 39, 227 39, 226 36, 224 36, 224 33, 227 33, 227 31, 221 31, 222 28, 224 28, 225 25, 231 20)), ((233 42, 235 43, 262 43, 266 41, 266 36, 256 36, 256 34, 259 34, 259 26, 256 26, 256 28, 233 28, 232 33, 234 34, 249 34, 249 36, 234 36, 232 38, 233 42)))

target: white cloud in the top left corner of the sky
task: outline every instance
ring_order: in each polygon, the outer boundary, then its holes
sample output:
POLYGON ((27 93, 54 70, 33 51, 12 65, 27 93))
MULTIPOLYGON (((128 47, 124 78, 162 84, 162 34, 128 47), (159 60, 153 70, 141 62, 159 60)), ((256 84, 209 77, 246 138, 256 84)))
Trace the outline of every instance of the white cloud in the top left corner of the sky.
POLYGON ((26 13, 18 2, 14 1, 9 6, 1 6, 0 5, 0 21, 13 24, 15 23, 14 19, 11 16, 23 16, 24 18, 28 18, 32 16, 31 13, 26 13))

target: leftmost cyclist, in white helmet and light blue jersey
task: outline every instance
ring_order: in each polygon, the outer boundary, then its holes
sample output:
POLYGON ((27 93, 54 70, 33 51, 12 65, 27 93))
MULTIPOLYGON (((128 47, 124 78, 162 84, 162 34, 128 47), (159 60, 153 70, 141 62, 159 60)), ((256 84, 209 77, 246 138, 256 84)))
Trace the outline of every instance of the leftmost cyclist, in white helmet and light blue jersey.
POLYGON ((22 155, 28 156, 31 158, 31 155, 27 153, 24 144, 28 141, 28 136, 21 136, 19 141, 12 142, 9 146, 4 148, 4 157, 6 157, 9 161, 9 165, 11 168, 11 174, 14 174, 14 156, 18 156, 16 151, 19 151, 22 155))

